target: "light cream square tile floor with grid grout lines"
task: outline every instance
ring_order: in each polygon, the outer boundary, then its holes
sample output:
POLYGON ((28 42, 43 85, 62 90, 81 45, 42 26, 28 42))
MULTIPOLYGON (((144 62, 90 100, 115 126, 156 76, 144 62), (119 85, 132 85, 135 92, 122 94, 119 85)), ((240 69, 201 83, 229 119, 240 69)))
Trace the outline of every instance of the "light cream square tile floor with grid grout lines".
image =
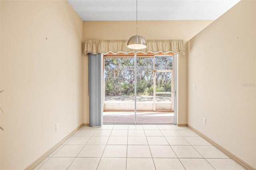
POLYGON ((36 170, 243 170, 188 127, 82 127, 36 170))

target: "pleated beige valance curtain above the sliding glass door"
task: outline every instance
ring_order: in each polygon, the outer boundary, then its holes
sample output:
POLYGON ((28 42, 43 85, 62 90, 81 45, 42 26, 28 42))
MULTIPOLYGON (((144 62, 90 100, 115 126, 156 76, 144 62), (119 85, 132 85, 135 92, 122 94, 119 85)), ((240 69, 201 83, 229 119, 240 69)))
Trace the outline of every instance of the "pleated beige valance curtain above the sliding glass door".
POLYGON ((127 47, 128 40, 85 40, 84 54, 98 54, 104 55, 108 53, 153 53, 159 52, 167 53, 185 53, 183 40, 146 40, 147 47, 145 49, 134 50, 127 47))

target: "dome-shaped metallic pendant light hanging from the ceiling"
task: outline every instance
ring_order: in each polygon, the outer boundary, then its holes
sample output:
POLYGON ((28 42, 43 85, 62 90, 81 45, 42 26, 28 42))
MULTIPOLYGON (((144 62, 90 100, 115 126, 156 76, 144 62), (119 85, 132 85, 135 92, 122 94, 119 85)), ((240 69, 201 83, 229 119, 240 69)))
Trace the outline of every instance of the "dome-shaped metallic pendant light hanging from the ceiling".
POLYGON ((136 36, 132 36, 128 40, 127 47, 131 49, 144 49, 147 47, 147 43, 144 37, 138 36, 138 0, 136 0, 136 27, 137 34, 136 36))

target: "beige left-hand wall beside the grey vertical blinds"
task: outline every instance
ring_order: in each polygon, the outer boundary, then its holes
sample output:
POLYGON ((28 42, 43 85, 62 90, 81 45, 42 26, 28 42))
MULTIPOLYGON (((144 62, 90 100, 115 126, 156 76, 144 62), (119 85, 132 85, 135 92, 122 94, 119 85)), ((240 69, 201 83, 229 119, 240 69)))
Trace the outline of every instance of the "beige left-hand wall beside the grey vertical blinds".
POLYGON ((0 20, 0 169, 24 169, 82 123, 82 20, 67 1, 3 0, 0 20))

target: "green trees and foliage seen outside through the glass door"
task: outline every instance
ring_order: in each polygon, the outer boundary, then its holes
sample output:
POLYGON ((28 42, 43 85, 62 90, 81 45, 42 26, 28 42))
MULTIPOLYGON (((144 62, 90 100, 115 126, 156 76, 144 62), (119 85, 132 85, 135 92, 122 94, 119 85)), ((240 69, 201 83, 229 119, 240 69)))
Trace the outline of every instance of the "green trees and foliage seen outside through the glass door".
MULTIPOLYGON (((157 59, 158 68, 172 67, 172 59, 157 59)), ((153 58, 137 58, 137 94, 153 95, 153 58)), ((105 59, 105 95, 134 95, 134 58, 105 59)), ((171 91, 171 73, 156 73, 156 91, 171 91)))

